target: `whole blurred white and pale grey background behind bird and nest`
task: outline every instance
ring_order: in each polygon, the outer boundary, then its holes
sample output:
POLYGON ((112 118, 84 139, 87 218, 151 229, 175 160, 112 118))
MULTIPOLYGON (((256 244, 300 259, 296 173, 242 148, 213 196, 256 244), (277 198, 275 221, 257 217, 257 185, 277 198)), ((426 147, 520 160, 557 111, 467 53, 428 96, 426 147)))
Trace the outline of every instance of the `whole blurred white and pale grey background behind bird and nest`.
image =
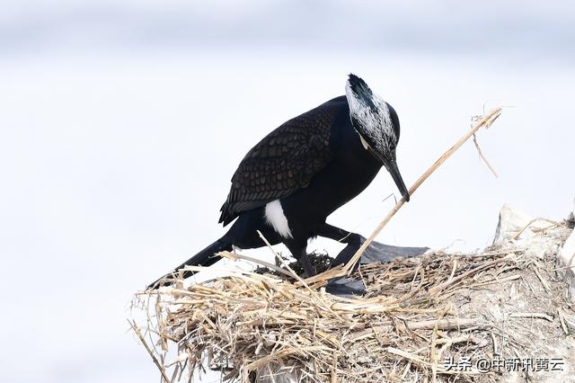
MULTIPOLYGON (((0 381, 159 381, 131 295, 225 232, 245 152, 349 72, 398 111, 408 186, 513 106, 478 137, 500 178, 466 144, 380 242, 482 248, 506 202, 565 218, 574 40, 571 2, 0 1, 0 381)), ((367 236, 392 192, 329 222, 367 236)))

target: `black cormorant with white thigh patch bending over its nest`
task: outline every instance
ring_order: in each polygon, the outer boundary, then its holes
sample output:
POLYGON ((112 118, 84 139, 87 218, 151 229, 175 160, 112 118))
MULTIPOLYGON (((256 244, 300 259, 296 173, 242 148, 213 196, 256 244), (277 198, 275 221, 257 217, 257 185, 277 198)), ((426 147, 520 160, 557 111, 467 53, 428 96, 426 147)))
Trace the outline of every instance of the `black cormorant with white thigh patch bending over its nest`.
MULTIPOLYGON (((410 200, 395 161, 397 113, 358 76, 349 75, 345 91, 345 96, 288 120, 252 147, 235 171, 220 210, 219 222, 226 226, 237 218, 234 224, 174 272, 186 265, 216 263, 215 254, 233 246, 261 247, 259 230, 271 245, 286 245, 311 276, 315 271, 305 251, 309 238, 347 244, 333 264, 347 263, 365 240, 325 219, 366 189, 382 166, 410 200)), ((368 251, 377 254, 381 246, 373 243, 368 251)), ((167 283, 163 277, 150 287, 167 283)))

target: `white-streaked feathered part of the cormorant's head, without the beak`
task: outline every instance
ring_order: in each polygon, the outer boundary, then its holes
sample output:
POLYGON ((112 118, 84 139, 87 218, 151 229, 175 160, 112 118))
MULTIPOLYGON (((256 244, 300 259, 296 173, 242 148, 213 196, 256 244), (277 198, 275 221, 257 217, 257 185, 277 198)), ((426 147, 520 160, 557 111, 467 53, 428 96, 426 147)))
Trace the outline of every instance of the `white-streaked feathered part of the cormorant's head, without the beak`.
POLYGON ((349 75, 345 94, 349 104, 349 118, 362 138, 363 146, 366 147, 367 143, 367 147, 371 147, 378 155, 393 156, 397 138, 387 102, 374 94, 366 82, 355 75, 349 75))

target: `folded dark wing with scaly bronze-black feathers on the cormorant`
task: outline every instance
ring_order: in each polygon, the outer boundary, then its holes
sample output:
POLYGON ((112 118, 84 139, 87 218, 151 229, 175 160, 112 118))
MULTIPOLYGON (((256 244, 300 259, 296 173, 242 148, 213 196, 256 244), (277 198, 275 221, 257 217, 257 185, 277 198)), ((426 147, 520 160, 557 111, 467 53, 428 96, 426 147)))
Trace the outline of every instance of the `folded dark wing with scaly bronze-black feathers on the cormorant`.
POLYGON ((305 188, 329 164, 332 125, 341 108, 348 108, 344 100, 325 102, 288 120, 252 147, 232 177, 219 218, 224 226, 243 211, 305 188))

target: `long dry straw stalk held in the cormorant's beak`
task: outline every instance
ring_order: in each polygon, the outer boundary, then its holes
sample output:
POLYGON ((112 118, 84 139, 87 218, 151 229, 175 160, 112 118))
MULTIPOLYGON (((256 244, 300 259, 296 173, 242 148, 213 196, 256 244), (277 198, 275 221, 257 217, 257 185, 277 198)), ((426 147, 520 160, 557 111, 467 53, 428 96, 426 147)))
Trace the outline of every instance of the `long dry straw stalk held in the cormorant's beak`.
MULTIPOLYGON (((428 179, 429 175, 431 175, 433 172, 436 171, 436 169, 443 164, 447 158, 449 158, 451 155, 453 155, 456 150, 461 147, 462 145, 464 145, 464 142, 467 141, 469 138, 471 138, 475 132, 483 127, 485 128, 489 128, 491 126, 491 124, 493 123, 494 120, 497 120, 497 118, 500 116, 502 111, 502 108, 495 108, 493 110, 491 110, 489 113, 487 113, 486 116, 483 116, 481 120, 478 120, 477 123, 475 124, 475 126, 473 127, 473 129, 471 129, 469 132, 467 132, 464 137, 460 138, 456 144, 453 147, 450 147, 447 152, 445 152, 442 156, 440 156, 438 158, 438 160, 429 167, 429 169, 420 176, 420 178, 418 178, 418 180, 413 183, 413 186, 411 186, 409 193, 410 196, 420 187, 421 183, 423 183, 425 180, 428 179)), ((403 206, 403 204, 405 203, 405 199, 402 198, 399 202, 397 202, 397 204, 394 206, 394 209, 392 209, 389 214, 387 214, 387 217, 385 217, 385 219, 383 221, 381 221, 381 223, 376 227, 376 230, 374 230, 374 232, 371 234, 371 236, 369 236, 366 240, 366 242, 363 243, 363 245, 361 245, 361 247, 359 247, 358 251, 356 252, 356 254, 353 255, 353 257, 351 258, 351 260, 349 261, 349 263, 347 263, 341 271, 341 275, 339 276, 343 276, 346 273, 349 275, 351 273, 351 271, 353 270, 353 267, 356 265, 356 263, 358 263, 359 258, 361 258, 361 254, 363 254, 363 252, 366 251, 367 246, 369 246, 374 239, 376 238, 376 236, 382 231, 382 229, 385 227, 385 225, 387 225, 387 223, 394 218, 395 213, 397 213, 397 211, 399 209, 401 209, 401 207, 403 206)))

